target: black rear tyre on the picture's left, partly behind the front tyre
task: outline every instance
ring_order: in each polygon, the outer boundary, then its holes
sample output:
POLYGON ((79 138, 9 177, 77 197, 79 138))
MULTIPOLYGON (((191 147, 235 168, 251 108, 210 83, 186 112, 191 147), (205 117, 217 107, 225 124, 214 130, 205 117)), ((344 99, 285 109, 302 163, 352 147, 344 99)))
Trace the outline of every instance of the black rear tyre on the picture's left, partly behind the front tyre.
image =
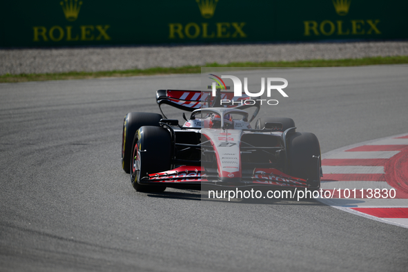
POLYGON ((122 130, 122 168, 126 173, 130 173, 132 143, 136 131, 141 126, 159 126, 162 118, 162 115, 157 113, 128 113, 125 116, 122 130))

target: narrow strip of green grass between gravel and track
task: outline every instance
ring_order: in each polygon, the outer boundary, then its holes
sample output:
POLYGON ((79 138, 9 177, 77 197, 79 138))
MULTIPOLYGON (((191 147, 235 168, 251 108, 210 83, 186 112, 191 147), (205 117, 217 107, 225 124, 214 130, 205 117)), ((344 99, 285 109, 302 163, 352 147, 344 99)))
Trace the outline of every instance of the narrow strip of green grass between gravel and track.
POLYGON ((312 59, 306 61, 265 61, 265 62, 231 62, 230 64, 206 64, 206 66, 183 66, 177 68, 148 68, 131 70, 113 70, 101 72, 55 72, 46 74, 0 75, 0 83, 44 81, 62 79, 95 79, 98 77, 134 77, 139 75, 196 74, 201 67, 338 67, 367 66, 378 64, 408 64, 408 56, 366 57, 362 59, 312 59))

